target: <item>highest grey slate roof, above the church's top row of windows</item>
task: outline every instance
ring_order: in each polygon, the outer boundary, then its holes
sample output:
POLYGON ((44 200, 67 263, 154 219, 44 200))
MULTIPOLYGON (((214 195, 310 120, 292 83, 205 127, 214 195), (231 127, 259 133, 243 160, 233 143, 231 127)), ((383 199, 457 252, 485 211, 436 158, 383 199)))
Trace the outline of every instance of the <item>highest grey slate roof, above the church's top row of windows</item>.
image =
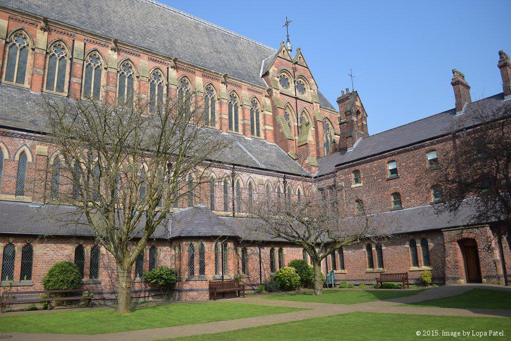
MULTIPOLYGON (((262 87, 267 86, 260 76, 262 62, 276 52, 152 0, 0 0, 0 4, 262 87)), ((324 97, 320 105, 332 107, 324 97)))

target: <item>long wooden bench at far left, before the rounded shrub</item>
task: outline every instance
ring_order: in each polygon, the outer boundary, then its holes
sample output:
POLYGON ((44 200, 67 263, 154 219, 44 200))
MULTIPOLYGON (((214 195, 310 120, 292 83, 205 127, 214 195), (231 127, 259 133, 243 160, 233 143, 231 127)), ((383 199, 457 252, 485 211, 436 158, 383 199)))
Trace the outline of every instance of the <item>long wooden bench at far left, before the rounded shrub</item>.
POLYGON ((50 310, 52 301, 77 301, 77 300, 87 300, 87 306, 90 307, 90 301, 92 297, 90 296, 82 296, 81 294, 86 292, 89 293, 88 289, 74 289, 74 290, 35 290, 35 291, 4 291, 0 293, 0 312, 4 313, 5 307, 10 304, 20 304, 20 303, 41 303, 48 302, 48 310, 50 310), (51 294, 54 293, 81 293, 78 295, 71 295, 68 297, 51 297, 51 294), (28 298, 28 299, 19 299, 17 298, 19 295, 29 295, 29 294, 46 294, 46 298, 28 298), (9 298, 13 297, 13 298, 9 298))

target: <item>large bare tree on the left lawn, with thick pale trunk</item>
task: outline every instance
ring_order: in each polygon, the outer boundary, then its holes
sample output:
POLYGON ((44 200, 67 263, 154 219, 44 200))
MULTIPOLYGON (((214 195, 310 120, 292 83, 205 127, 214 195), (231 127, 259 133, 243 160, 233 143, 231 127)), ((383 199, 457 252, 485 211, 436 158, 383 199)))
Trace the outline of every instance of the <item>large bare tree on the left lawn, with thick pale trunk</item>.
POLYGON ((49 216, 85 223, 117 264, 115 311, 129 313, 131 268, 173 208, 191 206, 230 143, 207 128, 195 93, 126 102, 45 97, 40 109, 58 151, 39 170, 49 216), (59 210, 58 207, 73 209, 59 210))

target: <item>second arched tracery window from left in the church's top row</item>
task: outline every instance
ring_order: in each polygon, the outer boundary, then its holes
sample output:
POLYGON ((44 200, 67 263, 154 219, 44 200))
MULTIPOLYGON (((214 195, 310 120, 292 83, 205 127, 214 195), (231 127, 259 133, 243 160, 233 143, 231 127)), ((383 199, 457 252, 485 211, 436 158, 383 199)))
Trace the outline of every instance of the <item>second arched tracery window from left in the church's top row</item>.
POLYGON ((50 48, 46 69, 46 90, 48 92, 57 94, 67 92, 65 86, 67 55, 67 49, 62 42, 57 42, 50 48))

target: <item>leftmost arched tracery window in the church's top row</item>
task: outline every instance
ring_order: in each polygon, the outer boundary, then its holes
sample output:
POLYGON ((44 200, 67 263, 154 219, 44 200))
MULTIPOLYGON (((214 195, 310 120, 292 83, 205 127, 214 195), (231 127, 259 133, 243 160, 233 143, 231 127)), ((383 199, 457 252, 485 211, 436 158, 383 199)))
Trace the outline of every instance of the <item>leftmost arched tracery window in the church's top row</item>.
POLYGON ((11 83, 25 84, 28 59, 29 38, 24 32, 17 32, 10 39, 5 80, 11 83))

